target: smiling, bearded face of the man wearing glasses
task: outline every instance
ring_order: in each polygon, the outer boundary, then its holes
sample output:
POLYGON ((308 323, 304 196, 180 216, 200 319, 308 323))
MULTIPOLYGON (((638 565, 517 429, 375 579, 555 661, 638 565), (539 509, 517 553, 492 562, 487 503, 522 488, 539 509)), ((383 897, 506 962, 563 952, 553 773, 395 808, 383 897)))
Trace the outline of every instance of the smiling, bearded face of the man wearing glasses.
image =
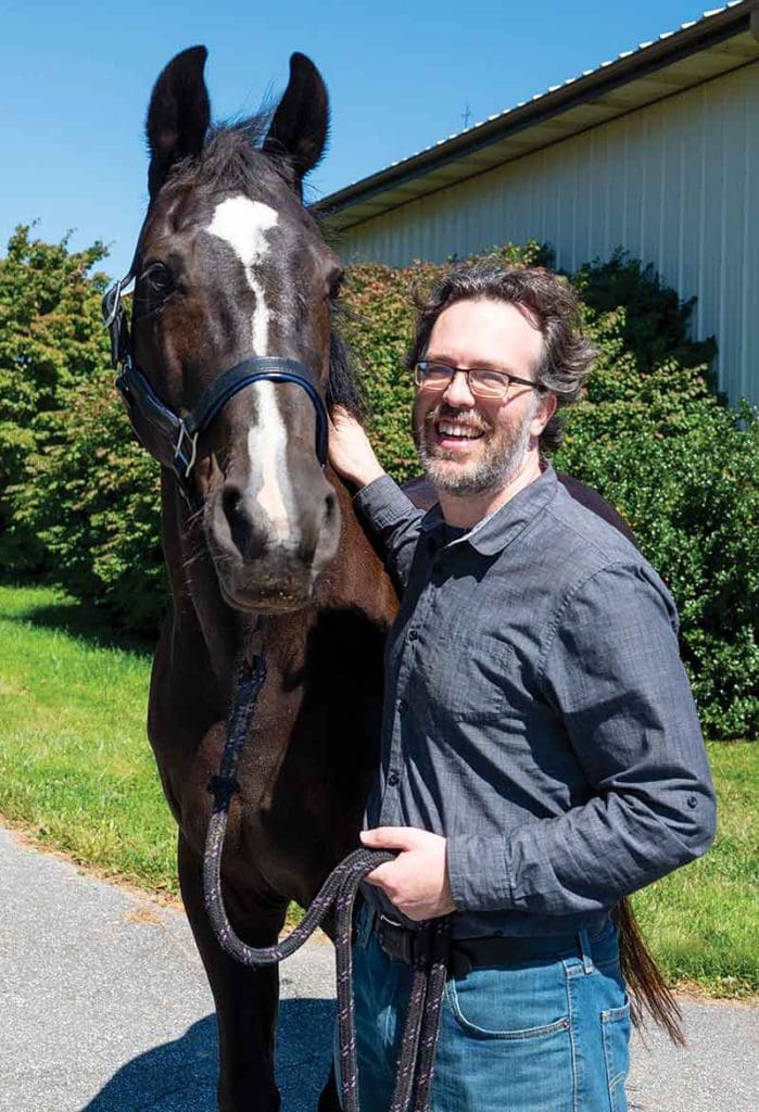
MULTIPOLYGON (((451 367, 535 379, 543 339, 537 321, 506 301, 456 301, 435 322, 425 358, 451 367)), ((449 494, 503 489, 547 420, 543 395, 512 384, 500 400, 475 397, 465 375, 445 390, 422 385, 413 424, 425 470, 449 494)), ((550 416, 550 415, 549 415, 550 416)))

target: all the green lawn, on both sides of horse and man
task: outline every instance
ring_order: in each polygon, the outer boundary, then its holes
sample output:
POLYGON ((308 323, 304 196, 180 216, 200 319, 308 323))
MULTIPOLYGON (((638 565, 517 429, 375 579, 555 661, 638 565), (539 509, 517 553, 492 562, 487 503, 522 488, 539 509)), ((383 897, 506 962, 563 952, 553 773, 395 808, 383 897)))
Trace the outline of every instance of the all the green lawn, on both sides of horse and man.
MULTIPOLYGON (((144 732, 150 653, 47 587, 0 585, 0 812, 83 865, 176 893, 174 826, 144 732)), ((635 897, 668 976, 759 992, 759 745, 711 744, 719 832, 635 897)))

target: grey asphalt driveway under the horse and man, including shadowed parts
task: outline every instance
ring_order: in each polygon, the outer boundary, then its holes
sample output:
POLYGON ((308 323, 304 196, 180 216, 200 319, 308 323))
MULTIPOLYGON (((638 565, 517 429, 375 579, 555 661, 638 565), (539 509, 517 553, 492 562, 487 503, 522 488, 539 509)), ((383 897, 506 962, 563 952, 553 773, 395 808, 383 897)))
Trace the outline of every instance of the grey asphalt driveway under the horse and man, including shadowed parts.
MULTIPOLYGON (((283 1112, 311 1112, 333 1022, 331 946, 282 967, 283 1112)), ((636 1039, 640 1112, 756 1112, 759 1009, 685 1000, 689 1045, 636 1039)), ((212 1004, 183 915, 0 828, 0 1112, 216 1112, 212 1004)))

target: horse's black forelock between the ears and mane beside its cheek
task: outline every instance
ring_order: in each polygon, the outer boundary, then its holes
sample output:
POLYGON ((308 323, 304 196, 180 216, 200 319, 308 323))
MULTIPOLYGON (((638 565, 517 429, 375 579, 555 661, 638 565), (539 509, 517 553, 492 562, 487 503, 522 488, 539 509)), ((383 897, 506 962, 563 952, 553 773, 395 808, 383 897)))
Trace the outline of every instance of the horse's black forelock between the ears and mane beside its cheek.
MULTIPOLYGON (((200 155, 184 159, 171 175, 172 185, 213 186, 220 179, 232 189, 251 193, 260 181, 261 159, 278 172, 287 168, 287 155, 272 151, 263 153, 261 145, 267 137, 273 112, 261 109, 244 119, 214 125, 208 132, 200 155)), ((339 307, 333 308, 339 311, 339 307)), ((367 406, 356 370, 351 364, 346 341, 333 327, 329 345, 329 383, 327 405, 343 406, 353 416, 366 417, 367 406)))

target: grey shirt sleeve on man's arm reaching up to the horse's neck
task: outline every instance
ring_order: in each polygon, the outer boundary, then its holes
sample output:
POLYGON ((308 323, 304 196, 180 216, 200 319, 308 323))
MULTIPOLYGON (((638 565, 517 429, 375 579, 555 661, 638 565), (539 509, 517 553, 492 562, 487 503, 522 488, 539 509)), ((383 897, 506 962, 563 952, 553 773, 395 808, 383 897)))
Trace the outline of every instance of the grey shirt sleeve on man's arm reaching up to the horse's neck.
POLYGON ((425 512, 413 505, 389 475, 381 475, 359 490, 353 506, 376 542, 388 573, 402 592, 425 512))

